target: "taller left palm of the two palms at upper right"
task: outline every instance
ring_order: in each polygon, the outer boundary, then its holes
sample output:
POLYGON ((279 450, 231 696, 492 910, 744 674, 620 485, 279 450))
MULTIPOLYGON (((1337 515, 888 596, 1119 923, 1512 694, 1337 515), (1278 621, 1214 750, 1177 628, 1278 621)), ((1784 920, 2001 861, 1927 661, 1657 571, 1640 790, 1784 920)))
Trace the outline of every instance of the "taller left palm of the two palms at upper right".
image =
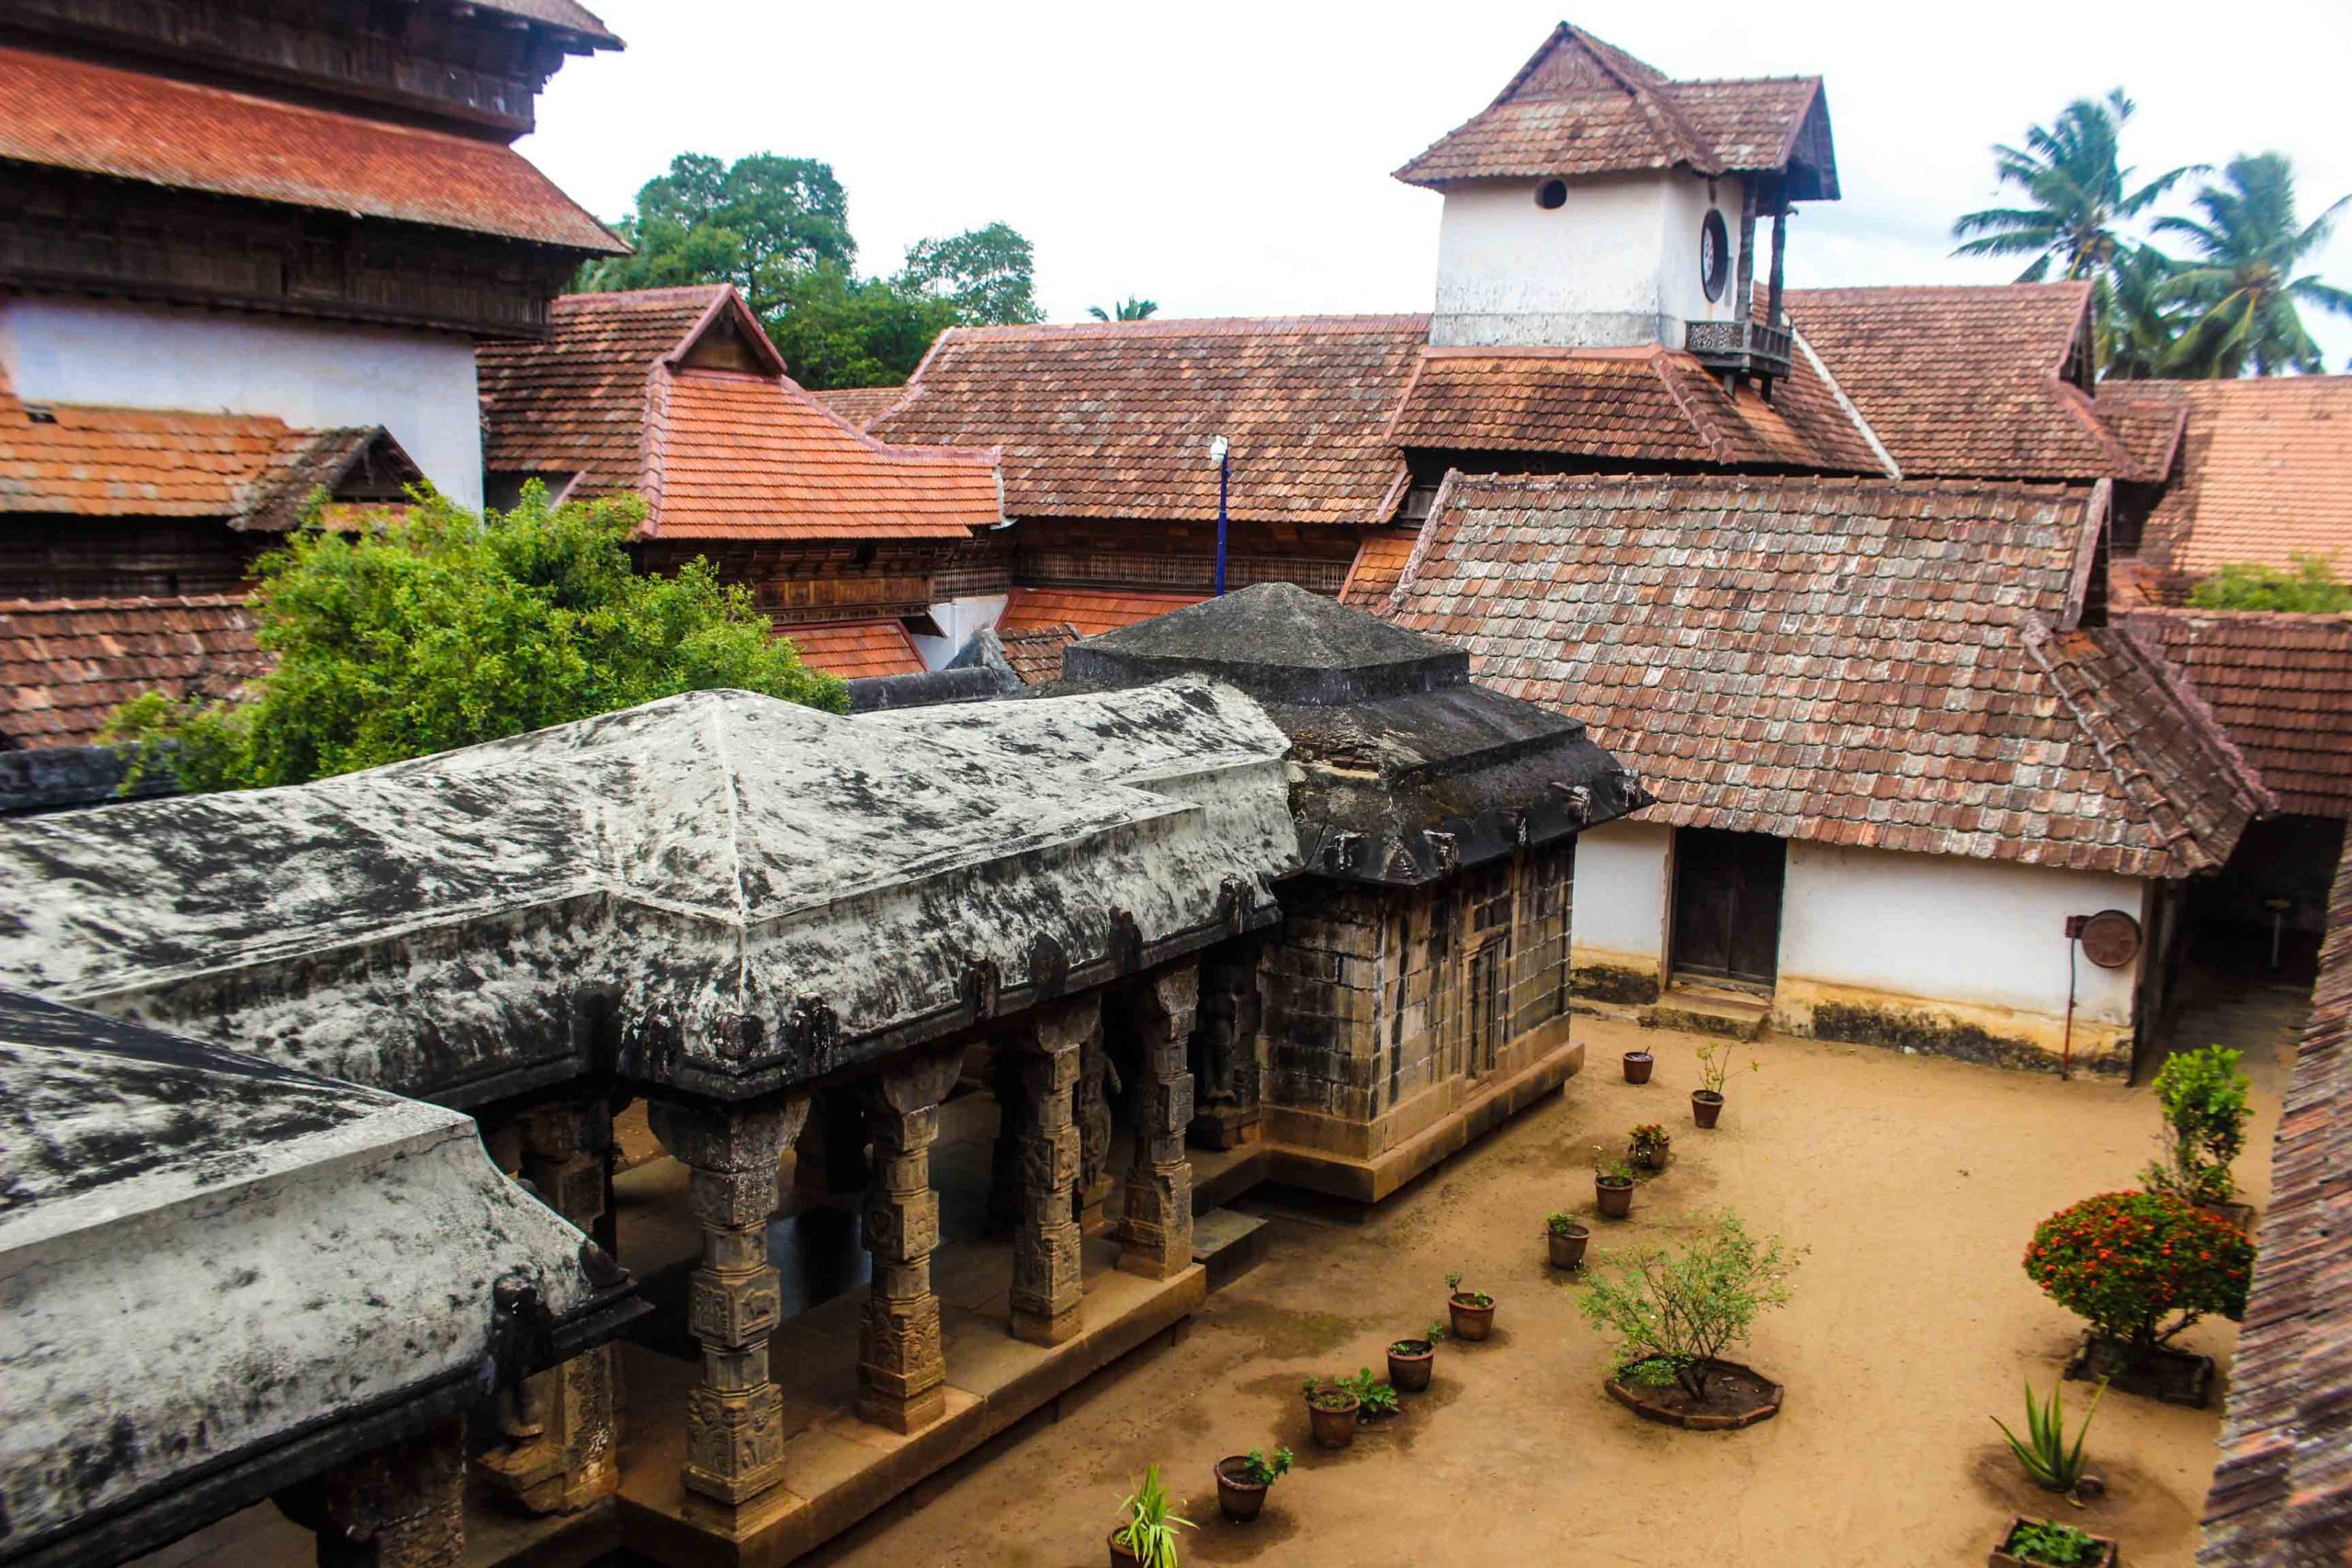
POLYGON ((2117 162, 2131 99, 2117 87, 2105 99, 2074 99, 2056 125, 2034 125, 2025 146, 1994 146, 1994 174, 2018 186, 2025 207, 1987 207, 1952 223, 1966 240, 1955 256, 2032 256, 2018 282, 2042 282, 2058 263, 2060 277, 2098 280, 2126 240, 2117 223, 2147 212, 2192 169, 2173 169, 2133 188, 2117 162))

